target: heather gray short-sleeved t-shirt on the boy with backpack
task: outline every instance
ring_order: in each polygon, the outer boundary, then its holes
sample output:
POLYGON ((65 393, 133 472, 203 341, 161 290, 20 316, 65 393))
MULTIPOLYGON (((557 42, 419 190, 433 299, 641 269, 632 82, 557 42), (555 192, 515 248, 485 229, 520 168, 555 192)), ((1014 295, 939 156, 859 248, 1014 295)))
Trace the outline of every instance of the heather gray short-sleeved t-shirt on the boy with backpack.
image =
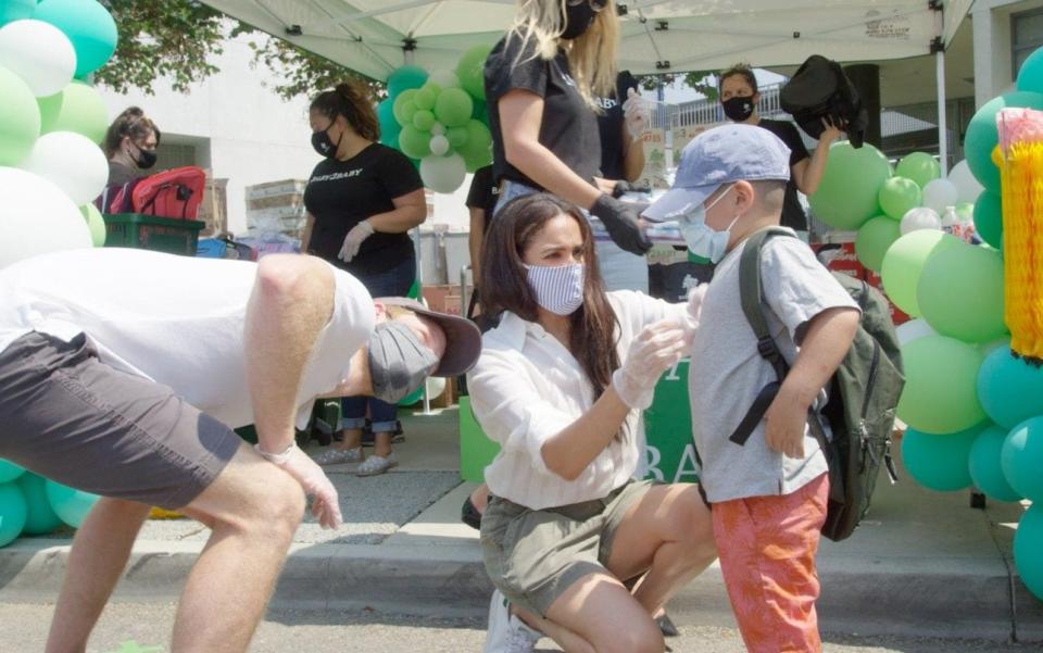
MULTIPOLYGON (((789 494, 827 469, 818 441, 805 427, 803 460, 768 449, 764 422, 744 445, 728 438, 761 389, 776 380, 757 353, 757 340, 742 312, 739 261, 745 242, 714 272, 692 343, 689 397, 692 434, 703 462, 701 480, 711 502, 789 494)), ((791 364, 807 323, 827 309, 857 304, 810 248, 796 238, 769 239, 761 250, 761 278, 768 327, 791 364)))

